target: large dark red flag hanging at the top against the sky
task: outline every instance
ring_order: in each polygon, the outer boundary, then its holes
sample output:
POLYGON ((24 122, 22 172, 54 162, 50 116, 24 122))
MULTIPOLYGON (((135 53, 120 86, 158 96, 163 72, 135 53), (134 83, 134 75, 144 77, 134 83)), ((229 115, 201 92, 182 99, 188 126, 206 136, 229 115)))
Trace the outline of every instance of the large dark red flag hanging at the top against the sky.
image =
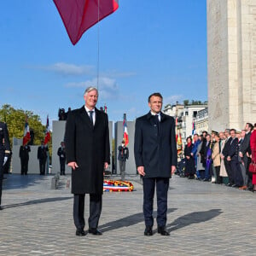
POLYGON ((119 8, 118 0, 54 0, 72 44, 98 21, 119 8))

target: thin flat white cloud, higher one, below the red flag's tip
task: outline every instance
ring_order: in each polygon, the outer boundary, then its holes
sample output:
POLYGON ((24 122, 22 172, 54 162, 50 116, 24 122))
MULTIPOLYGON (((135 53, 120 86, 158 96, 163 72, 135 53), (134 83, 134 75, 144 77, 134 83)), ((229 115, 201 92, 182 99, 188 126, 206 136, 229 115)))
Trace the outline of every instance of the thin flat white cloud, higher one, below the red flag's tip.
POLYGON ((91 75, 94 73, 94 70, 95 70, 95 68, 90 65, 79 66, 74 64, 67 64, 64 62, 57 62, 49 66, 38 67, 38 68, 51 71, 54 73, 63 74, 63 75, 84 75, 84 74, 91 75))

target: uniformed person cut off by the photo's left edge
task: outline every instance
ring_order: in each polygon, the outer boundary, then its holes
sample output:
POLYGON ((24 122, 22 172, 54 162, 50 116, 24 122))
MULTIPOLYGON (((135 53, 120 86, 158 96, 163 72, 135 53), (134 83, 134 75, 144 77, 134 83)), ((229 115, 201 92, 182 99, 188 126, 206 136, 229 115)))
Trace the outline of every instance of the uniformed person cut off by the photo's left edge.
POLYGON ((9 132, 7 125, 0 122, 0 210, 1 199, 2 199, 2 184, 3 184, 3 166, 7 162, 10 155, 10 145, 9 145, 9 132), (4 142, 4 144, 3 144, 4 142))

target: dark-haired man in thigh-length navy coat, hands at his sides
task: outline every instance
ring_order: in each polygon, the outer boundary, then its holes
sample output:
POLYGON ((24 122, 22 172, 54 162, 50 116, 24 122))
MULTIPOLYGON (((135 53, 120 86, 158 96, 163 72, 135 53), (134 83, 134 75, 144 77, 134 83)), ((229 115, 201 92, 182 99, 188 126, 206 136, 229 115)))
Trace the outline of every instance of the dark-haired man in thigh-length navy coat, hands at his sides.
POLYGON ((143 177, 143 214, 145 236, 153 235, 154 188, 157 193, 158 233, 169 236, 166 230, 169 179, 177 166, 175 122, 161 113, 163 97, 154 93, 148 97, 150 111, 136 119, 134 154, 137 172, 143 177))

